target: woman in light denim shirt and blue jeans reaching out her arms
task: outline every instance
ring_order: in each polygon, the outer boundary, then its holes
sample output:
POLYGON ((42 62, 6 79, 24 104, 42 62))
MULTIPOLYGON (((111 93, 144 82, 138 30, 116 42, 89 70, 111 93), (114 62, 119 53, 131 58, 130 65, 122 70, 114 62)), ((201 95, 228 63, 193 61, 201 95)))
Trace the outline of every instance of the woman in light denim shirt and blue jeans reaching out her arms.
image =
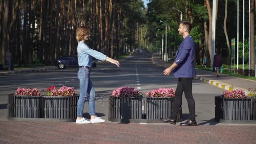
POLYGON ((85 44, 85 41, 90 37, 90 29, 88 27, 79 27, 76 31, 77 45, 77 57, 79 70, 77 77, 80 81, 80 96, 77 102, 77 120, 76 123, 102 123, 105 120, 97 117, 95 114, 95 91, 90 79, 90 70, 92 67, 92 57, 101 61, 109 61, 112 64, 120 66, 119 62, 107 57, 103 53, 94 51, 85 44), (89 94, 89 114, 91 121, 83 118, 83 108, 85 101, 87 100, 87 94, 89 94))

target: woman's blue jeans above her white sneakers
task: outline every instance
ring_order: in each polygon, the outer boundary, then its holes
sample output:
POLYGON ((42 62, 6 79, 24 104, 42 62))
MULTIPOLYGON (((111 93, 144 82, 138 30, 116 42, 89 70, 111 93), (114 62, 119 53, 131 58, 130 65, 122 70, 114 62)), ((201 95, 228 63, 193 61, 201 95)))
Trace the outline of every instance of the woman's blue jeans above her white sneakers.
POLYGON ((90 79, 90 70, 88 68, 79 68, 77 77, 80 81, 80 96, 77 102, 77 117, 83 117, 83 108, 85 101, 89 96, 89 114, 95 115, 95 91, 90 79))

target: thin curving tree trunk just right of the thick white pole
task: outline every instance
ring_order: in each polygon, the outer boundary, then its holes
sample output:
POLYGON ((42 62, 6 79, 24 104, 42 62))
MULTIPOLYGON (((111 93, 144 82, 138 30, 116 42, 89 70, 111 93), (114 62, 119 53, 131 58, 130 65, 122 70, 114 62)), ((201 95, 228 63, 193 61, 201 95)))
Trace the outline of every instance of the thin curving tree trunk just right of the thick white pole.
POLYGON ((226 41, 227 41, 227 48, 228 48, 228 54, 229 54, 227 64, 228 64, 228 69, 229 69, 229 72, 230 72, 231 71, 231 68, 230 68, 231 48, 230 48, 230 44, 229 44, 229 36, 227 34, 227 0, 226 0, 226 3, 225 3, 224 33, 225 33, 226 41))

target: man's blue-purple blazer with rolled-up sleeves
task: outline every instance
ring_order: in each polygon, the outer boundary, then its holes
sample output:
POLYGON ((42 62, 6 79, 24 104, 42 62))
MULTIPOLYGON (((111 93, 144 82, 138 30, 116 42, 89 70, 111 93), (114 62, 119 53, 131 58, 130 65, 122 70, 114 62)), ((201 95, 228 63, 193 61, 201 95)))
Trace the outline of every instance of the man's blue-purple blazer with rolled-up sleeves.
POLYGON ((178 64, 173 70, 175 77, 196 77, 195 61, 195 41, 188 35, 181 42, 178 48, 175 63, 178 64))

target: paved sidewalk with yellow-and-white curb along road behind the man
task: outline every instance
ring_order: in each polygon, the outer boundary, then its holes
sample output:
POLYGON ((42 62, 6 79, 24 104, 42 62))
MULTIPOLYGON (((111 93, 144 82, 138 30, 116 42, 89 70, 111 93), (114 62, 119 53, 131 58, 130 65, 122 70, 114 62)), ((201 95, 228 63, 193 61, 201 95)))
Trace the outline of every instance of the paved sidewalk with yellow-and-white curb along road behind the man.
MULTIPOLYGON (((154 64, 156 64, 159 67, 170 67, 172 64, 172 61, 166 63, 162 61, 157 53, 154 53, 152 55, 152 61, 154 64)), ((244 91, 247 91, 248 88, 254 88, 256 87, 256 81, 253 80, 246 80, 239 77, 233 77, 229 75, 220 74, 220 77, 216 77, 216 72, 210 72, 205 70, 197 69, 197 77, 201 78, 201 80, 204 80, 207 83, 210 83, 212 85, 215 85, 219 88, 223 88, 228 91, 232 91, 233 88, 237 89, 243 89, 244 91), (203 79, 202 79, 203 78, 203 79)))

